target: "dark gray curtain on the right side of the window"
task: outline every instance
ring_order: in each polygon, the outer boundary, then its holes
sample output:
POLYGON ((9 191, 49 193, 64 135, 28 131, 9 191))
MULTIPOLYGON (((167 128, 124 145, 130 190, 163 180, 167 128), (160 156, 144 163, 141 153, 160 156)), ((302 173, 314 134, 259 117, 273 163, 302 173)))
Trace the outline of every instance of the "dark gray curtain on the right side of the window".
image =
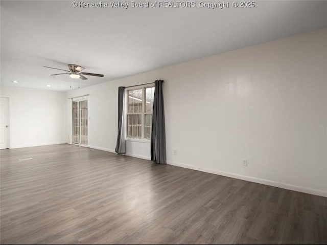
POLYGON ((151 132, 151 161, 166 163, 166 131, 164 98, 162 97, 162 80, 154 84, 152 132, 151 132))

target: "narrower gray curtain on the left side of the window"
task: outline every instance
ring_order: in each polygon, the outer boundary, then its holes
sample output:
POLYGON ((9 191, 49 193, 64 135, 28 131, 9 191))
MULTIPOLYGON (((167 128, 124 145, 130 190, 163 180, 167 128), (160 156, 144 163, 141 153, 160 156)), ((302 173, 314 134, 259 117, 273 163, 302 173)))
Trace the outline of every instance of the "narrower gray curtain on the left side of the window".
POLYGON ((118 87, 118 135, 115 152, 118 154, 126 153, 125 128, 124 128, 124 94, 125 87, 118 87))

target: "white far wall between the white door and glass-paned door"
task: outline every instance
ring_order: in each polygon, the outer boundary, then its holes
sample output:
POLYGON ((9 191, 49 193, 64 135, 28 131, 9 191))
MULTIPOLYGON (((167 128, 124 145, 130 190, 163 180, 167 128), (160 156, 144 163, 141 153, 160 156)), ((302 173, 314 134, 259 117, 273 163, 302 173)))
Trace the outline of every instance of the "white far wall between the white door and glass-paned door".
POLYGON ((9 97, 10 148, 66 143, 66 93, 1 86, 9 97))

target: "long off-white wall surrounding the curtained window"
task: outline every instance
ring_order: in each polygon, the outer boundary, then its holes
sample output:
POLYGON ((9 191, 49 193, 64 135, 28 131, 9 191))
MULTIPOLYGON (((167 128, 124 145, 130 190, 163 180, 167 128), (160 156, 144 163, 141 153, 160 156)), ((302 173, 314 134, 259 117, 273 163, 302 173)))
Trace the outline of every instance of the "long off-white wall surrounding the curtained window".
MULTIPOLYGON (((118 86, 163 79, 169 164, 327 196, 326 43, 324 28, 68 97, 90 94, 90 145, 113 151, 118 86)), ((128 154, 150 156, 149 144, 127 147, 128 154)))

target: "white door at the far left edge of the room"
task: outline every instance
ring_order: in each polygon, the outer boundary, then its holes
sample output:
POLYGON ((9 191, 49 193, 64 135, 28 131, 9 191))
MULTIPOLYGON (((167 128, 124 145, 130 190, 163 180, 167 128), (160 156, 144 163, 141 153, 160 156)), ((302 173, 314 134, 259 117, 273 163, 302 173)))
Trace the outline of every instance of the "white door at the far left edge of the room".
POLYGON ((0 149, 9 148, 9 99, 0 101, 0 149))

